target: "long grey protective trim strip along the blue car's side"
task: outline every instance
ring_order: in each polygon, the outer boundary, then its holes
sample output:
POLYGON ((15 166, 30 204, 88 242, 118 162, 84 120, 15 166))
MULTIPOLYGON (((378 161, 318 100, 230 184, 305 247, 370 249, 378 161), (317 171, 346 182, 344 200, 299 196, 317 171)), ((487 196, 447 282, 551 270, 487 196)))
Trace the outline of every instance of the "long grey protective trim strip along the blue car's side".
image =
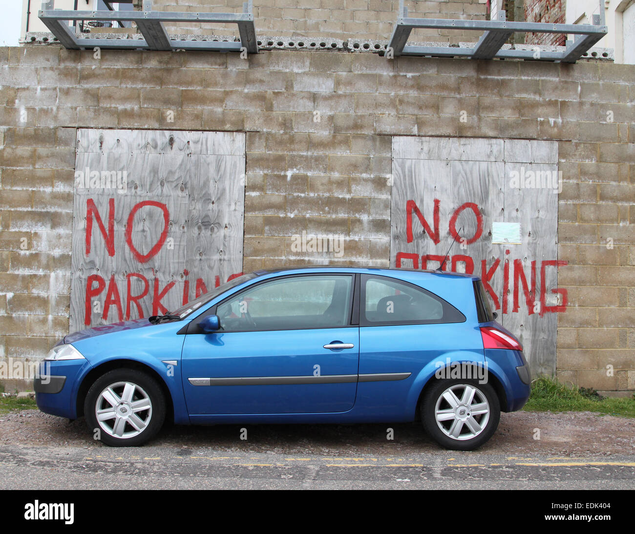
POLYGON ((375 373, 369 375, 325 375, 314 377, 228 377, 188 378, 192 385, 281 385, 281 384, 349 384, 351 382, 384 382, 404 380, 410 373, 375 373))

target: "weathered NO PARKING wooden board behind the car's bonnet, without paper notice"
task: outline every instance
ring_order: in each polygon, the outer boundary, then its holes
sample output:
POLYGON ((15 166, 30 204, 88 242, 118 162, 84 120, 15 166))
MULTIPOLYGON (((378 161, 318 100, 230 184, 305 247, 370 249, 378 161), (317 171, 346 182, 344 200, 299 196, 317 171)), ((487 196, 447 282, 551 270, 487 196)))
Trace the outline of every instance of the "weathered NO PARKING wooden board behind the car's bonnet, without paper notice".
POLYGON ((241 133, 77 132, 70 331, 177 309, 241 272, 244 147, 241 133))

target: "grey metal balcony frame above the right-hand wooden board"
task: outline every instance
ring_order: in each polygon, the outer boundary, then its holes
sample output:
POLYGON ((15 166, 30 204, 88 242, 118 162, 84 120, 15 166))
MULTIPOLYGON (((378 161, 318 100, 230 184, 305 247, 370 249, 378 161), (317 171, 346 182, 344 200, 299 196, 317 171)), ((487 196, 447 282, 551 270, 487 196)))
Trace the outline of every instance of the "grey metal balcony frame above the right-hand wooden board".
POLYGON ((608 31, 605 25, 604 0, 599 0, 599 15, 593 15, 592 24, 551 24, 544 22, 507 22, 505 11, 498 11, 497 20, 455 20, 448 18, 411 18, 403 0, 399 0, 399 15, 392 30, 385 56, 466 57, 472 59, 514 58, 527 60, 575 63, 608 31), (413 29, 445 29, 483 31, 474 48, 454 46, 411 46, 407 44, 413 29), (502 46, 514 32, 573 34, 565 51, 503 50, 502 46))

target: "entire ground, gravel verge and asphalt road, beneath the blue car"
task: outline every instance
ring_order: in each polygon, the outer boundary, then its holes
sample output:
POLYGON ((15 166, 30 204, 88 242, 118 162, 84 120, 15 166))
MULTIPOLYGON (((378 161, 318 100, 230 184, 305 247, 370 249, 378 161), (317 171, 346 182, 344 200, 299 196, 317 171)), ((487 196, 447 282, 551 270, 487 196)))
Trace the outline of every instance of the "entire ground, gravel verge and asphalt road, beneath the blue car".
POLYGON ((481 450, 447 451, 419 424, 168 427, 109 448, 83 420, 0 415, 0 489, 635 489, 635 422, 504 414, 481 450), (543 429, 533 439, 535 427, 543 429))

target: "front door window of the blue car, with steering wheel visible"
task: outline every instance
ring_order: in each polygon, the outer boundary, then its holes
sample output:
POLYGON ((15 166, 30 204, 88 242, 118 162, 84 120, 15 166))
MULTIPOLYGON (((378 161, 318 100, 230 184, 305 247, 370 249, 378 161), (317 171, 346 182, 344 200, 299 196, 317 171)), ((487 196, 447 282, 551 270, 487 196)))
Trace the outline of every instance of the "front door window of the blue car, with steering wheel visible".
POLYGON ((299 330, 349 324, 352 276, 293 276, 276 279, 217 307, 221 330, 299 330))

